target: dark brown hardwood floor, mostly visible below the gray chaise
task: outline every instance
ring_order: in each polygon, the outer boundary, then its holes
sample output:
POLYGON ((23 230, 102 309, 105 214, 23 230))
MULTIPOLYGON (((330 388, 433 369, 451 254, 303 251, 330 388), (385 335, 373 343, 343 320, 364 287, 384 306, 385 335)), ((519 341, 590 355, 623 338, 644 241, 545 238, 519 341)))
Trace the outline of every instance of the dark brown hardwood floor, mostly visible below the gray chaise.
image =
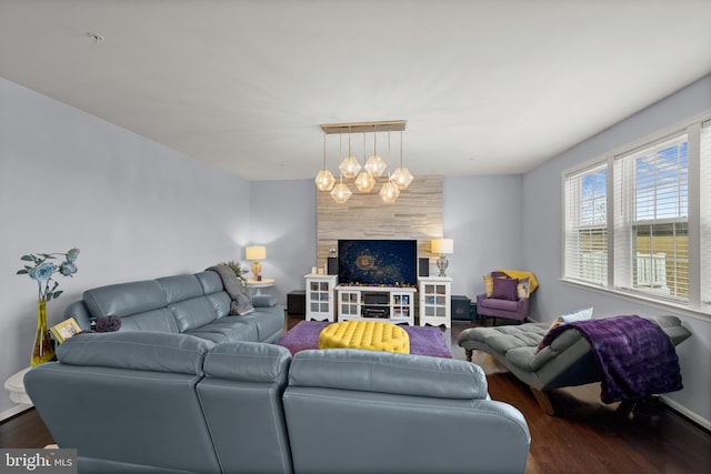
MULTIPOLYGON (((284 326, 290 329, 299 321, 287 317, 284 326)), ((464 360, 457 335, 473 325, 454 322, 451 330, 443 330, 454 359, 464 360)), ((528 474, 711 472, 711 434, 670 409, 662 406, 655 416, 621 417, 615 412, 618 404, 603 404, 599 384, 590 384, 554 391, 551 401, 557 415, 548 416, 528 386, 488 354, 475 352, 474 362, 487 372, 491 397, 519 409, 529 424, 528 474)), ((33 409, 0 424, 1 447, 50 443, 53 441, 33 409)))

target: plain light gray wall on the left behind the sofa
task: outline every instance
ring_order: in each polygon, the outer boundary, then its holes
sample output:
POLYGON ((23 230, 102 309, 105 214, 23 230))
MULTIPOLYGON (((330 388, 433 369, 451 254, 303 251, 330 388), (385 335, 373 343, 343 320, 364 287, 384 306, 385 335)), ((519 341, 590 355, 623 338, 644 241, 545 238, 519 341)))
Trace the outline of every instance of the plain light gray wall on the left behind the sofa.
MULTIPOLYGON (((84 289, 243 256, 250 200, 239 178, 0 79, 0 381, 29 365, 37 325, 20 255, 81 250, 54 324, 84 289)), ((0 392, 0 420, 16 409, 0 392)))

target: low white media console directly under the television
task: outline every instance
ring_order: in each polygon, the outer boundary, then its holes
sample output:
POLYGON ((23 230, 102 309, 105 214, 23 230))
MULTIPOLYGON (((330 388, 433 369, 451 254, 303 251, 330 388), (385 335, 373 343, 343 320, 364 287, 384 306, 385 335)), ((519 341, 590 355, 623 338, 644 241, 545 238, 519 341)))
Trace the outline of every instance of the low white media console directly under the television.
POLYGON ((414 288, 336 286, 338 320, 388 321, 414 325, 414 288))

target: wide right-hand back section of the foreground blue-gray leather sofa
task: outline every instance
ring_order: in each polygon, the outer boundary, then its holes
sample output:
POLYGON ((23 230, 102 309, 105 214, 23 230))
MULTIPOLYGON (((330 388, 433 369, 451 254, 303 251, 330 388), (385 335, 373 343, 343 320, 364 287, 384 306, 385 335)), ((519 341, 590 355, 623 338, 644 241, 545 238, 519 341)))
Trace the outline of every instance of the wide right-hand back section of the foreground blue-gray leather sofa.
POLYGON ((301 351, 283 395, 294 472, 522 473, 525 420, 485 386, 464 361, 301 351))

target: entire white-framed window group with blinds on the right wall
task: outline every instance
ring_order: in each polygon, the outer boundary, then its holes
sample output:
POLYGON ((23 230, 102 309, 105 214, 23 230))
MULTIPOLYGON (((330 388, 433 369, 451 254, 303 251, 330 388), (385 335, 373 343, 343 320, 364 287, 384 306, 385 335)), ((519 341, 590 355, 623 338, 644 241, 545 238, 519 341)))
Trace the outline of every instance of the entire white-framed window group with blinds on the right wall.
POLYGON ((711 121, 572 170, 563 186, 564 279, 711 313, 711 121))

